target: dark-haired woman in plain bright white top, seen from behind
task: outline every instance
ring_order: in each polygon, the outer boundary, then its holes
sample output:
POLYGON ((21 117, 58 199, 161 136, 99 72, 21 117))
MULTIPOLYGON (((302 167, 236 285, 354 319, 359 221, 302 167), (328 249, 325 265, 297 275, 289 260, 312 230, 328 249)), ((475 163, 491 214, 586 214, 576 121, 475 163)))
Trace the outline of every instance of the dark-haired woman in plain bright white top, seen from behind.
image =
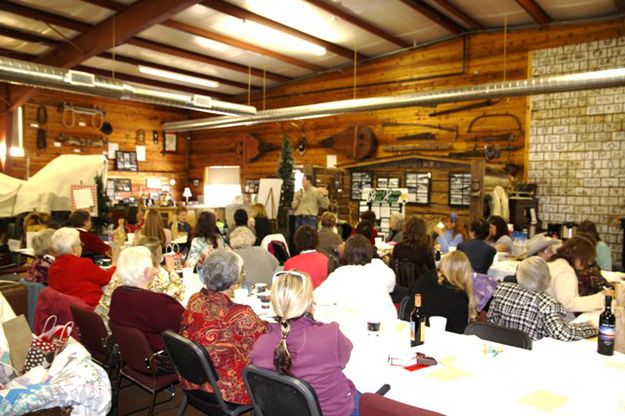
POLYGON ((395 273, 380 259, 371 259, 373 246, 364 236, 352 235, 345 242, 346 266, 334 270, 315 289, 317 306, 330 307, 350 319, 374 316, 380 321, 397 318, 389 295, 395 288, 395 273))

